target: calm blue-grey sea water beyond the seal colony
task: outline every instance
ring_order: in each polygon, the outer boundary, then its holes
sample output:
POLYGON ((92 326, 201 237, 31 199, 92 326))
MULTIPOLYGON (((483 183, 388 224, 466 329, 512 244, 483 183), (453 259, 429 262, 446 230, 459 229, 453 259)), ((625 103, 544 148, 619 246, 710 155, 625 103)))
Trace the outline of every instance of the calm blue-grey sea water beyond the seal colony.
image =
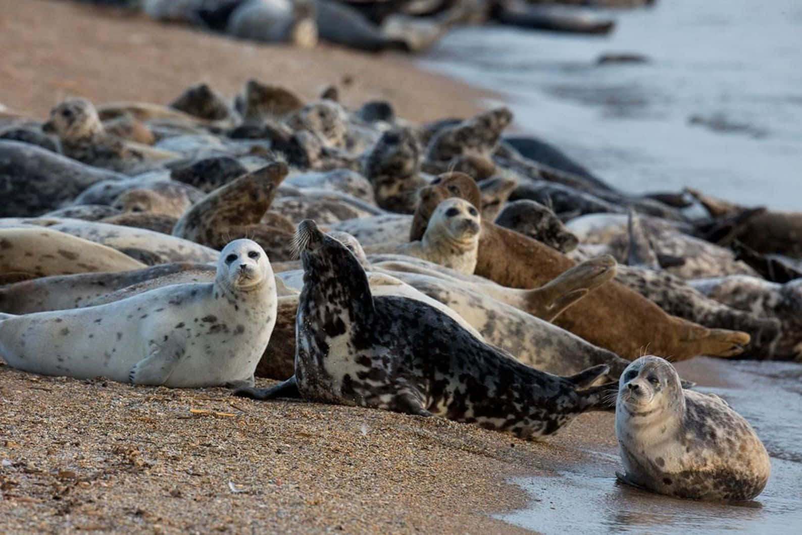
POLYGON ((628 191, 802 209, 802 2, 658 0, 609 37, 448 34, 423 66, 500 91, 516 127, 628 191), (648 63, 597 66, 606 52, 648 63))

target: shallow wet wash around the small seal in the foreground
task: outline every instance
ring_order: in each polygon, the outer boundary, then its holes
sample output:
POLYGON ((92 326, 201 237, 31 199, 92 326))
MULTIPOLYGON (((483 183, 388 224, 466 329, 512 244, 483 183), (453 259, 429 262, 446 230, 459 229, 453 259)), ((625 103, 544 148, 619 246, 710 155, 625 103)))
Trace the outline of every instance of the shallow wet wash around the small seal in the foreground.
MULTIPOLYGON (((528 509, 498 518, 542 533, 800 533, 802 527, 802 366, 784 362, 698 359, 678 364, 683 377, 715 378, 715 392, 750 421, 772 457, 764 492, 743 505, 677 500, 615 481, 616 450, 591 452, 593 464, 553 477, 514 481, 528 509)), ((712 381, 711 381, 712 382, 712 381)), ((610 432, 614 432, 610 429, 610 432)))

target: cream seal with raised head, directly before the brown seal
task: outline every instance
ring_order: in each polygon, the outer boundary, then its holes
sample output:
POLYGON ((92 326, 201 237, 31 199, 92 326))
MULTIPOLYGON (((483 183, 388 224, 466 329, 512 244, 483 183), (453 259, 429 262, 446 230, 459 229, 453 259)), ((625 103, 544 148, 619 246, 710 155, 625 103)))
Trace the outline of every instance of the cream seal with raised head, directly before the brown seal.
POLYGON ((479 211, 467 200, 445 199, 435 208, 420 241, 405 243, 396 252, 473 273, 480 219, 479 211))

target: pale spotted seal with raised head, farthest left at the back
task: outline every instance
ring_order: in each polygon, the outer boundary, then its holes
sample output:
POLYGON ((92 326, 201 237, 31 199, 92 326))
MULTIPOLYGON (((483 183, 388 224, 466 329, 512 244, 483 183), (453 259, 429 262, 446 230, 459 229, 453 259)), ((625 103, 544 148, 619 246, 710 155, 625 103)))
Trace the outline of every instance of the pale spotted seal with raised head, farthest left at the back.
POLYGON ((87 99, 67 99, 51 110, 43 131, 59 136, 59 150, 82 163, 133 174, 176 159, 173 152, 160 151, 109 135, 103 129, 95 106, 87 99))

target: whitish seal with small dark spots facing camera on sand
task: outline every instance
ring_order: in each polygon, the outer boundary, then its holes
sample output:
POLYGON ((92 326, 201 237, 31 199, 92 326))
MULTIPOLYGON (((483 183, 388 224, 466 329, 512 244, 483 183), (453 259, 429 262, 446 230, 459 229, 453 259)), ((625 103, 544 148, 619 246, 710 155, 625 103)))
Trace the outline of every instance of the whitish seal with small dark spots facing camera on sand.
POLYGON ((265 252, 225 246, 213 283, 0 321, 0 355, 27 372, 175 388, 253 384, 276 320, 265 252))

